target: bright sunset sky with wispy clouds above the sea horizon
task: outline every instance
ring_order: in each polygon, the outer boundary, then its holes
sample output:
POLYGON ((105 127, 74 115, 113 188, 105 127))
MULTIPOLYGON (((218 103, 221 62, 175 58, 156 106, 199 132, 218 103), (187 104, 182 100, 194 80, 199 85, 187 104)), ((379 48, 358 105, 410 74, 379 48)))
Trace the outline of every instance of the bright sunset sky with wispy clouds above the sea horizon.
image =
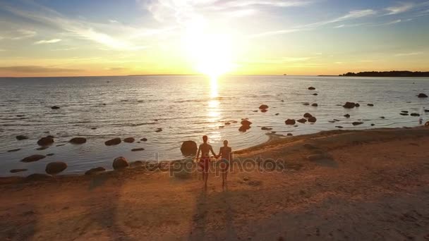
POLYGON ((0 76, 429 71, 429 1, 0 0, 0 76))

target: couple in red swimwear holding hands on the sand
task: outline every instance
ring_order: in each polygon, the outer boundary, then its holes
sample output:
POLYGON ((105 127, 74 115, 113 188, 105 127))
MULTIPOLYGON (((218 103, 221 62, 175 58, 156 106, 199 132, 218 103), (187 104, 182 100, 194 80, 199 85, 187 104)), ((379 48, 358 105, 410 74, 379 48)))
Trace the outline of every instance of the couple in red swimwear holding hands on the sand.
POLYGON ((207 143, 208 137, 207 135, 203 136, 203 144, 200 144, 198 147, 198 152, 196 159, 199 163, 199 166, 202 168, 204 186, 207 187, 207 179, 209 177, 209 169, 210 169, 210 152, 213 154, 215 159, 221 158, 219 163, 220 171, 222 172, 222 187, 224 187, 226 183, 226 175, 228 174, 229 164, 232 160, 232 149, 228 147, 228 141, 224 140, 224 146, 220 147, 219 154, 214 154, 213 148, 210 144, 207 143), (201 159, 198 159, 200 157, 201 159))

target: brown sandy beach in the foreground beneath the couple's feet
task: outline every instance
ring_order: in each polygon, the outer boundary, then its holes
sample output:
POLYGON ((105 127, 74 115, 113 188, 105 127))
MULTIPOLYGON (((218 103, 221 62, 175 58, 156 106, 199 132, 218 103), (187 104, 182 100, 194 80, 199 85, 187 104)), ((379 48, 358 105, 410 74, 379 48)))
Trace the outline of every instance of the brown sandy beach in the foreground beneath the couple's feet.
POLYGON ((429 240, 429 128, 273 138, 222 180, 143 168, 1 178, 0 240, 429 240))

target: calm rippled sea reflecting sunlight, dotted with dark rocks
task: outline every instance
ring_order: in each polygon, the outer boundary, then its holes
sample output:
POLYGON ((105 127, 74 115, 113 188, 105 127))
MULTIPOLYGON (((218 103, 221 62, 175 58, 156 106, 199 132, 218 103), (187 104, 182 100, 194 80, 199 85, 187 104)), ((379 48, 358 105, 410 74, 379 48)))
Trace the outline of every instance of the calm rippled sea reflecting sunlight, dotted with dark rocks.
POLYGON ((269 131, 261 130, 263 126, 280 135, 333 130, 336 125, 344 129, 413 127, 418 117, 401 116, 400 111, 429 109, 429 99, 416 97, 420 92, 429 94, 428 78, 226 76, 214 82, 204 76, 131 76, 1 78, 0 84, 1 176, 44 173, 51 161, 68 163, 64 173, 83 173, 97 166, 111 169, 117 156, 130 161, 180 159, 181 142, 200 142, 202 135, 209 136, 216 151, 223 140, 229 140, 233 149, 243 149, 268 140, 269 131), (310 86, 316 90, 308 90, 310 86), (346 101, 358 101, 361 107, 338 106, 346 101), (318 107, 303 102, 318 103, 318 107), (270 106, 266 113, 258 111, 261 104, 270 106), (54 105, 61 109, 52 110, 54 105), (302 118, 306 112, 318 118, 317 123, 284 124, 287 118, 302 118), (344 118, 346 113, 351 118, 344 118), (241 118, 253 122, 247 132, 238 131, 241 118), (330 123, 333 119, 340 121, 330 123), (224 125, 225 121, 238 123, 224 125), (351 125, 354 121, 363 125, 351 125), (155 132, 158 128, 162 132, 155 132), (18 141, 16 135, 30 139, 18 141), (37 140, 47 135, 54 135, 54 145, 36 150, 37 140), (72 137, 86 137, 87 143, 68 144, 72 137), (114 137, 146 137, 147 142, 104 145, 114 137), (145 151, 131 152, 140 147, 145 151), (32 154, 50 153, 54 156, 20 162, 32 154), (13 168, 28 171, 9 173, 13 168))

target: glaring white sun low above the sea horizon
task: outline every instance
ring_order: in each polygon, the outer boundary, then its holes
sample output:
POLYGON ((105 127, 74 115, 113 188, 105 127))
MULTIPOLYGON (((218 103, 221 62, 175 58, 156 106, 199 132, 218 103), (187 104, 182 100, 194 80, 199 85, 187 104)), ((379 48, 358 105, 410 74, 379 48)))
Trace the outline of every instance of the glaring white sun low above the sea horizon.
POLYGON ((207 34, 191 30, 186 36, 187 55, 194 68, 214 79, 233 68, 231 38, 222 34, 207 34))

